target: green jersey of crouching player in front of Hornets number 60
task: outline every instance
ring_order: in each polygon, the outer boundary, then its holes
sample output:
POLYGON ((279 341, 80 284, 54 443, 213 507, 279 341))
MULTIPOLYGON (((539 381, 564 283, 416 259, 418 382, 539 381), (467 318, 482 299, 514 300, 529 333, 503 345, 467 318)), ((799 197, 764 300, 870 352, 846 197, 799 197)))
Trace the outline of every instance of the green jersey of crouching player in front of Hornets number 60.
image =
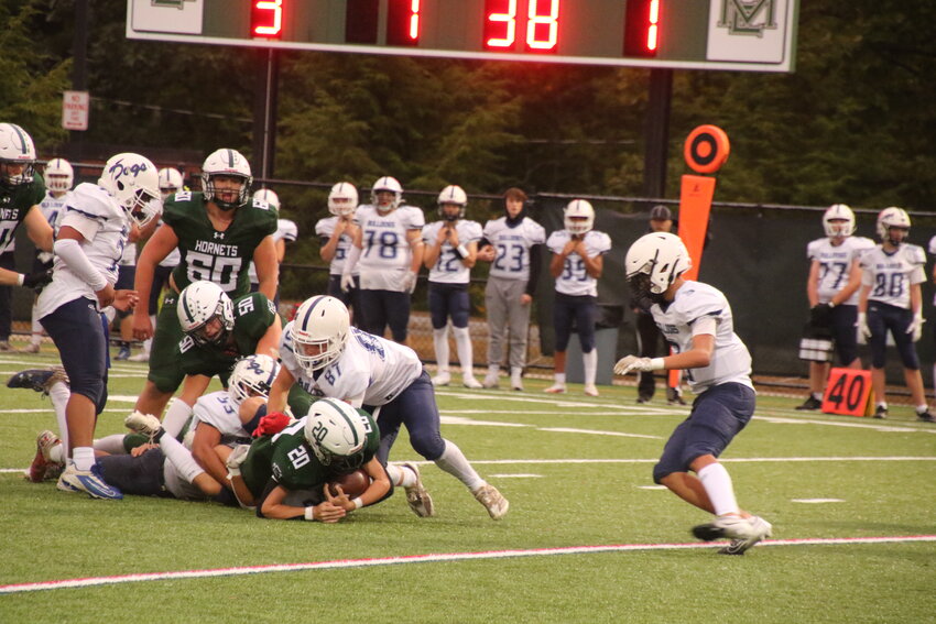
POLYGON ((251 293, 233 300, 235 327, 225 344, 198 347, 188 336, 178 343, 179 366, 187 375, 221 375, 235 362, 257 352, 257 343, 274 322, 279 322, 273 302, 263 293, 251 293))

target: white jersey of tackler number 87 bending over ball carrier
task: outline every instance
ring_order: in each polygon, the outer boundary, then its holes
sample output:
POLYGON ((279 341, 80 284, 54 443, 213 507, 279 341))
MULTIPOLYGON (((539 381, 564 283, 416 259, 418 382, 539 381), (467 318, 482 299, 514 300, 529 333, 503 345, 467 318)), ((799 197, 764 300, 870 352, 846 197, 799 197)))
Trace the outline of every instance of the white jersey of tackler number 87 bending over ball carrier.
POLYGON ((342 401, 363 395, 363 405, 390 403, 422 374, 423 363, 409 347, 353 327, 350 331, 341 355, 313 377, 296 362, 290 322, 280 341, 280 359, 309 394, 342 401))

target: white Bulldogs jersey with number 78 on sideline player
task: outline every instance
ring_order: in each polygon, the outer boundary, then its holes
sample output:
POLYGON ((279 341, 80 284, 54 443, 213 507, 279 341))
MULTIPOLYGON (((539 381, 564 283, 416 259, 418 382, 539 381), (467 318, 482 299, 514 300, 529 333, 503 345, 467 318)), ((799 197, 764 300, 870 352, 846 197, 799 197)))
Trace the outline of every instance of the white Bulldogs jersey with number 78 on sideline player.
POLYGON ((400 206, 387 215, 370 205, 359 206, 355 221, 361 227, 362 250, 358 269, 361 288, 402 293, 403 278, 413 262, 406 234, 426 225, 423 211, 414 206, 400 206))

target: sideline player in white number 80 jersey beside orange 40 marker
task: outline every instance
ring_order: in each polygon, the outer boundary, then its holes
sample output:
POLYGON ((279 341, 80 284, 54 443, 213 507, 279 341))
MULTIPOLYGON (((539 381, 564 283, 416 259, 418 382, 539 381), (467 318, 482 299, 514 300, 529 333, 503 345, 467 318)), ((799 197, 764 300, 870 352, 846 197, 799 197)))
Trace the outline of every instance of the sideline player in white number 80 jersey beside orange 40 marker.
POLYGON ((874 418, 888 417, 884 363, 890 331, 901 355, 917 419, 936 423, 926 405, 919 359, 913 346, 923 336, 919 285, 926 281, 923 269, 926 253, 923 248, 905 242, 910 236, 910 216, 902 208, 892 206, 878 215, 878 236, 881 244, 861 256, 863 273, 858 299, 858 329, 871 348, 871 387, 878 403, 874 418))

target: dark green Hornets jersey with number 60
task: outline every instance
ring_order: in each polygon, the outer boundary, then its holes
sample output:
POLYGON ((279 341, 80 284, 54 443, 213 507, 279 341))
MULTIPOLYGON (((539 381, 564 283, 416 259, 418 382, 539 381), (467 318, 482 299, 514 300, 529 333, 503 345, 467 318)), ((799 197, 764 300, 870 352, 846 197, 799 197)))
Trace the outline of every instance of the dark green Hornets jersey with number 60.
POLYGON ((252 200, 237 209, 224 232, 211 226, 202 193, 176 193, 163 206, 163 221, 178 238, 182 261, 172 272, 179 291, 192 282, 214 282, 231 298, 250 292, 248 267, 265 237, 276 232, 279 214, 269 204, 252 200))

